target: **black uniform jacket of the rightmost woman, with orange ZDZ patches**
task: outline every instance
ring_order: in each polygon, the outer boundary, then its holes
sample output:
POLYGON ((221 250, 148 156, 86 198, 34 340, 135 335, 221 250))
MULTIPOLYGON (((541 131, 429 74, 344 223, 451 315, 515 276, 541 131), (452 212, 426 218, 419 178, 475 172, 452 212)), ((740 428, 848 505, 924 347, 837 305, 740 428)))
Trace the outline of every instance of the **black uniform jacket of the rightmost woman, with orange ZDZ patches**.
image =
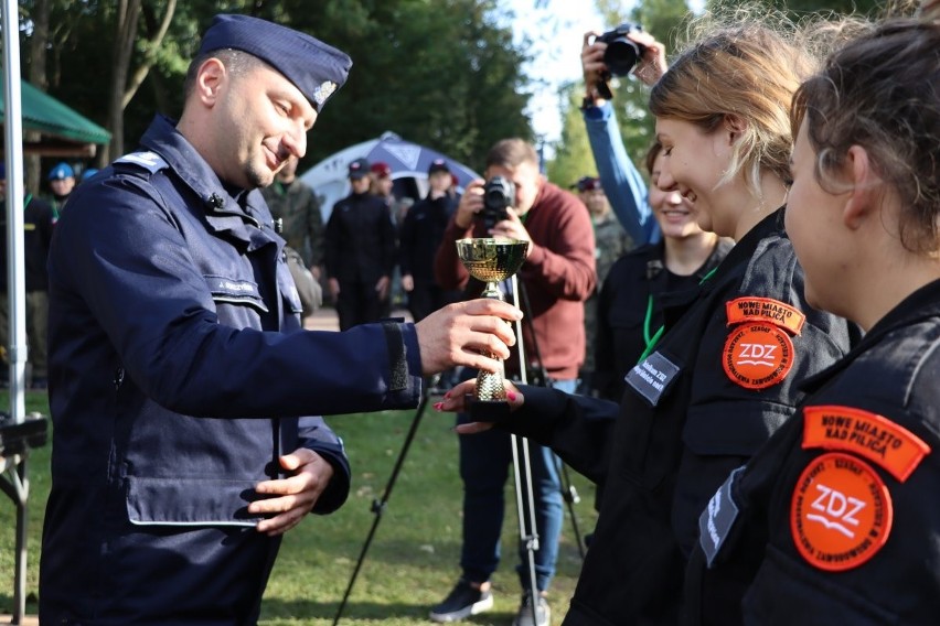
POLYGON ((804 385, 703 514, 690 623, 940 623, 938 348, 940 281, 804 385))

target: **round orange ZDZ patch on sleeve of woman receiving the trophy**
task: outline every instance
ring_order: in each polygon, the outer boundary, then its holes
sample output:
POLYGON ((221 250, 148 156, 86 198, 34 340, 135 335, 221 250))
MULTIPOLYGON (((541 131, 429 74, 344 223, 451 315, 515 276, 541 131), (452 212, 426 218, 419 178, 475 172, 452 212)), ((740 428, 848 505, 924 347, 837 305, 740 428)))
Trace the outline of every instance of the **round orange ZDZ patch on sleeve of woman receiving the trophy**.
POLYGON ((777 385, 793 367, 793 342, 790 335, 769 324, 745 324, 736 327, 722 355, 725 374, 748 389, 777 385))

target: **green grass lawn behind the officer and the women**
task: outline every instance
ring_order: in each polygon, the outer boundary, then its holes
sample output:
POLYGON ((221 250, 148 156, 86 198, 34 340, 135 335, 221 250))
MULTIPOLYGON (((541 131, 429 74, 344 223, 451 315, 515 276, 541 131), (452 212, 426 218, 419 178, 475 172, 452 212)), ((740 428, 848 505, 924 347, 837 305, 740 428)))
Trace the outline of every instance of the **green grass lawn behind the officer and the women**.
MULTIPOLYGON (((0 407, 6 408, 6 395, 0 407)), ((49 412, 44 393, 26 393, 26 410, 49 412)), ((261 624, 332 624, 363 543, 373 525, 374 499, 381 499, 414 411, 338 415, 330 424, 346 444, 353 485, 345 506, 328 517, 311 516, 287 533, 265 595, 261 624)), ((460 570, 461 484, 457 468, 457 435, 452 414, 426 411, 388 498, 385 512, 343 612, 342 624, 429 623, 428 609, 450 591, 460 570)), ((29 461, 31 492, 30 554, 26 612, 36 612, 40 535, 49 495, 50 446, 33 451, 29 461)), ((578 527, 594 528, 594 487, 569 472, 581 501, 575 505, 578 527)), ((506 485, 503 564, 493 578, 495 607, 472 624, 509 625, 519 605, 515 573, 519 527, 512 479, 506 485)), ((0 503, 0 613, 13 606, 15 510, 0 503)), ((549 595, 553 623, 558 624, 580 569, 567 511, 558 557, 558 574, 549 595)))

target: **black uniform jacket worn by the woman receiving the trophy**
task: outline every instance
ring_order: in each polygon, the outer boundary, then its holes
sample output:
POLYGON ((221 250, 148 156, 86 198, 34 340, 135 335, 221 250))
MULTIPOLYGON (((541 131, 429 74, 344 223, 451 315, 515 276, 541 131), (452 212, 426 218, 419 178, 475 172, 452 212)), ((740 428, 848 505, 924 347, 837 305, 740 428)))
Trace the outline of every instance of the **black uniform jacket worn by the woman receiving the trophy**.
POLYGON ((675 623, 698 514, 793 413, 797 382, 847 352, 848 323, 802 299, 782 216, 752 228, 695 292, 673 294, 667 332, 628 374, 619 419, 611 402, 523 390, 512 430, 605 483, 565 624, 675 623), (777 358, 769 367, 743 363, 760 360, 758 345, 777 358))

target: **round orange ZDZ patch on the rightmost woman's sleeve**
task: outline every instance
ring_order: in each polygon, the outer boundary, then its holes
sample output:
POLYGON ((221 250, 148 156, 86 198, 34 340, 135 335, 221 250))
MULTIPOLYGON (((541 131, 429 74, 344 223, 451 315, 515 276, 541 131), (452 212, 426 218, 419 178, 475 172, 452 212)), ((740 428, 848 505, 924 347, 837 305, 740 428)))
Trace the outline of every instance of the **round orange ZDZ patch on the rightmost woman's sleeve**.
POLYGON ((891 531, 891 497, 870 465, 829 452, 803 470, 790 505, 790 531, 814 568, 842 572, 874 557, 891 531))

